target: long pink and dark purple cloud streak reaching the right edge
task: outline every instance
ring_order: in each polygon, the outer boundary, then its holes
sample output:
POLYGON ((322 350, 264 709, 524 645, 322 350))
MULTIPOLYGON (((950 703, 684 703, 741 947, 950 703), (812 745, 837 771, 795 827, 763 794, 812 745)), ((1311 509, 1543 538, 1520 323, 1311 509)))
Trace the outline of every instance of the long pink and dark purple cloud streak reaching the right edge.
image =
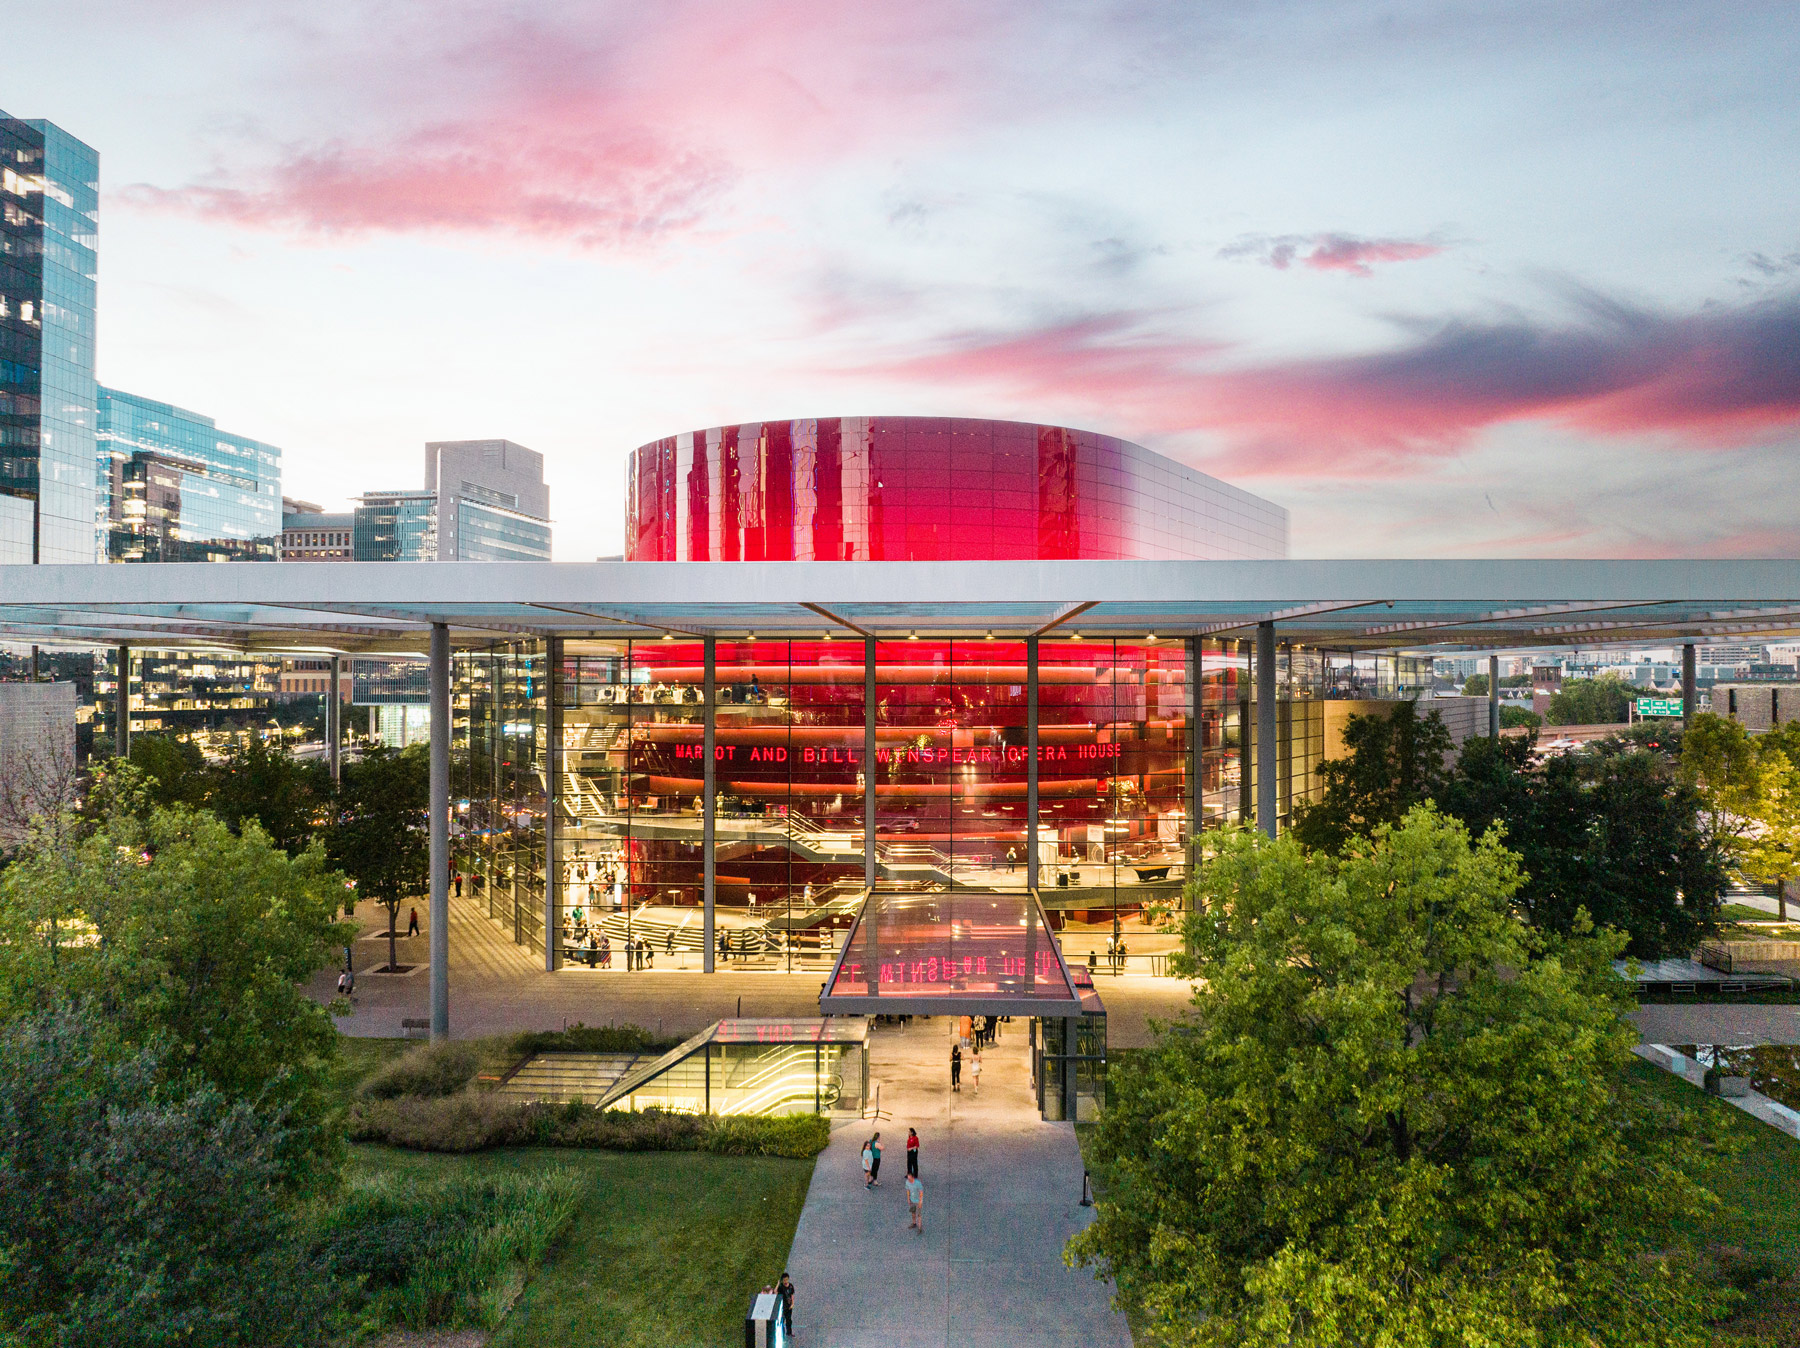
POLYGON ((1381 477, 1481 432, 1553 423, 1708 450, 1800 425, 1800 293, 1670 315, 1586 295, 1564 322, 1409 324, 1388 351, 1228 365, 1170 333, 1179 315, 1053 319, 963 331, 857 373, 1093 409, 1132 434, 1206 434, 1249 475, 1381 477))

